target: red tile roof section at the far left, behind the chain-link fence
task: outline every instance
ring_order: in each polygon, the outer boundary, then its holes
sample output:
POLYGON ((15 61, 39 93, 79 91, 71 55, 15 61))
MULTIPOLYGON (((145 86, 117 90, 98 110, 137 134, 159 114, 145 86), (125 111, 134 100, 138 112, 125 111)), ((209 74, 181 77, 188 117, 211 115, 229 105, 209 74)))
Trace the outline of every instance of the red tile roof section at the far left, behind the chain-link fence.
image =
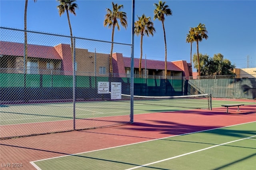
MULTIPOLYGON (((24 44, 0 41, 0 54, 10 56, 24 56, 24 44)), ((28 44, 28 57, 62 60, 54 47, 32 44, 28 44)))

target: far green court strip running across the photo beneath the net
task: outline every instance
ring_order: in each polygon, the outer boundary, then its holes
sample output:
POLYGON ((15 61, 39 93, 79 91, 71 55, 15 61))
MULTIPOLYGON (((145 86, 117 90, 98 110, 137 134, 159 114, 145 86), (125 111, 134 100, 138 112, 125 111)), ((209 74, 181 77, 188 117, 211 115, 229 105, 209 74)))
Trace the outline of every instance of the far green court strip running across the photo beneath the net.
MULTIPOLYGON (((236 102, 235 100, 212 100, 212 107, 236 103, 255 104, 255 102, 236 102)), ((195 108, 208 108, 207 100, 154 99, 134 101, 134 114, 191 110, 195 108)), ((130 101, 78 102, 75 109, 76 119, 124 116, 130 115, 130 101)), ((3 105, 0 113, 1 125, 72 120, 73 103, 3 105)))

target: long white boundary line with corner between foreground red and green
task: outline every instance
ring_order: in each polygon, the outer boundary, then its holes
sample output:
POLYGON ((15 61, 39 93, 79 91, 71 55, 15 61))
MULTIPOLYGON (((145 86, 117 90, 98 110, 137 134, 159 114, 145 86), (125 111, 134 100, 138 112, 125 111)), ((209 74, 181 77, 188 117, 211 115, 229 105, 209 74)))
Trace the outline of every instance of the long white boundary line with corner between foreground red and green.
MULTIPOLYGON (((208 130, 200 130, 200 131, 197 131, 197 132, 190 132, 190 133, 186 133, 186 134, 179 134, 179 135, 174 135, 174 136, 168 136, 168 137, 164 137, 164 138, 152 139, 152 140, 147 140, 147 141, 143 141, 143 142, 137 142, 137 143, 133 143, 133 144, 140 144, 140 143, 150 142, 150 141, 154 141, 154 140, 161 140, 161 139, 166 139, 166 138, 172 138, 172 137, 175 137, 175 136, 183 136, 183 135, 194 134, 194 133, 199 133, 199 132, 206 132, 206 131, 210 131, 210 130, 228 128, 228 127, 232 127, 232 126, 238 126, 238 125, 254 123, 254 122, 256 122, 256 121, 246 122, 246 123, 241 123, 241 124, 235 124, 235 125, 225 126, 225 127, 221 127, 221 128, 213 128, 213 129, 208 129, 208 130)), ((110 148, 104 148, 104 149, 98 149, 98 150, 91 150, 91 151, 87 151, 87 152, 81 152, 81 153, 77 153, 77 154, 69 154, 69 155, 64 155, 64 156, 56 156, 56 157, 53 157, 53 158, 46 158, 46 159, 41 159, 41 160, 35 160, 35 161, 31 161, 30 164, 32 164, 37 170, 41 170, 41 168, 39 168, 34 162, 50 160, 50 159, 55 159, 55 158, 62 158, 62 157, 65 157, 65 156, 85 154, 85 153, 89 153, 89 152, 96 152, 96 151, 107 150, 107 149, 112 149, 112 148, 119 148, 119 147, 122 147, 122 146, 129 146, 129 145, 133 145, 133 144, 126 144, 126 145, 114 146, 114 147, 110 147, 110 148)))

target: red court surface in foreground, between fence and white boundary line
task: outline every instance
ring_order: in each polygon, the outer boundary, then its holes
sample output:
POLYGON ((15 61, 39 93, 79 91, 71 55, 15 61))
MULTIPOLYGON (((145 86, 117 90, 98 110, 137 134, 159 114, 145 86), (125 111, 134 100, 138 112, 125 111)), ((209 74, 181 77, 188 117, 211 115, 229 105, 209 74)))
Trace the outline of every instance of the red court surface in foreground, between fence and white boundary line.
POLYGON ((228 114, 226 108, 221 107, 212 111, 137 114, 134 123, 125 126, 1 140, 0 169, 34 170, 30 161, 256 121, 256 105, 241 106, 240 111, 228 114), (7 163, 19 163, 22 167, 2 167, 7 163))

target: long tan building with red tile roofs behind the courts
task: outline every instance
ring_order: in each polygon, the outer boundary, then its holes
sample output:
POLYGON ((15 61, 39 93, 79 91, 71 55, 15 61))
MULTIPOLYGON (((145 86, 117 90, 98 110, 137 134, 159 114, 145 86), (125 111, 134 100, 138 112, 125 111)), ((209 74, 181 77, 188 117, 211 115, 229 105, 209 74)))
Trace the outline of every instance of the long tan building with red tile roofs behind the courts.
MULTIPOLYGON (((28 74, 72 75, 73 63, 70 44, 40 46, 28 44, 28 74)), ((0 42, 0 72, 23 73, 24 44, 0 42), (12 69, 10 69, 12 68, 12 69)), ((75 70, 77 75, 108 76, 109 54, 88 52, 76 48, 75 70), (87 74, 85 74, 87 73, 87 74), (94 73, 94 74, 93 74, 94 73)), ((137 76, 139 58, 134 58, 134 74, 137 76)), ((131 58, 121 53, 112 54, 113 74, 118 77, 130 75, 131 58)), ((164 76, 164 61, 142 59, 142 74, 164 76), (146 70, 146 72, 145 72, 146 70), (145 74, 146 73, 146 74, 145 74)), ((167 62, 167 76, 192 76, 191 64, 184 60, 167 62)))

